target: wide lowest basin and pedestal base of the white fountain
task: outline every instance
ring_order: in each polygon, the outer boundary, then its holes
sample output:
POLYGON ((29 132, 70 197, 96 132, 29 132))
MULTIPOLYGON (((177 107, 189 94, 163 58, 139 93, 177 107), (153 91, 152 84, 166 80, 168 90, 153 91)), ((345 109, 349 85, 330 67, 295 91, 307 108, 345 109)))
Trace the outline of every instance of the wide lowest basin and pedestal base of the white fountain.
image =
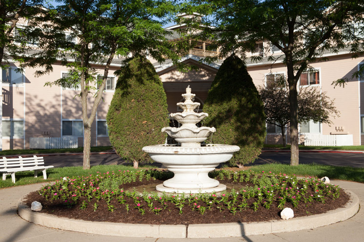
POLYGON ((174 177, 157 185, 161 192, 210 193, 226 190, 226 186, 208 176, 220 163, 230 160, 239 146, 208 144, 202 147, 149 145, 143 151, 162 163, 174 177))

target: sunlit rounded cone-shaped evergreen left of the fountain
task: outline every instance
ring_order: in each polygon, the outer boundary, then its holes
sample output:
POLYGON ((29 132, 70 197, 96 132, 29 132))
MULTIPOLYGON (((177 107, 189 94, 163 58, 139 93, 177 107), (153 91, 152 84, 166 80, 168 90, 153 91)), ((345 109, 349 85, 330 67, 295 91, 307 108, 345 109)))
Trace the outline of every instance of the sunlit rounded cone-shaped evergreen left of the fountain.
POLYGON ((136 56, 121 68, 107 113, 111 144, 117 154, 134 163, 151 161, 146 145, 163 143, 161 128, 168 126, 167 96, 154 66, 136 56))

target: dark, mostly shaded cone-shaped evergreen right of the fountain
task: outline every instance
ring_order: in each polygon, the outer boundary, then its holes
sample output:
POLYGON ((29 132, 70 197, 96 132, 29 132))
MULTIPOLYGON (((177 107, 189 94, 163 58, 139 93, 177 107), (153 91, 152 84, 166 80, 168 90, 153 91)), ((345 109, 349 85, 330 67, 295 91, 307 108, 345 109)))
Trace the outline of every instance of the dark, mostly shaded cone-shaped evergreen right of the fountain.
POLYGON ((243 167, 261 153, 265 138, 263 102, 243 61, 233 55, 225 59, 211 84, 203 112, 204 126, 215 127, 213 143, 235 144, 240 151, 229 161, 243 167))

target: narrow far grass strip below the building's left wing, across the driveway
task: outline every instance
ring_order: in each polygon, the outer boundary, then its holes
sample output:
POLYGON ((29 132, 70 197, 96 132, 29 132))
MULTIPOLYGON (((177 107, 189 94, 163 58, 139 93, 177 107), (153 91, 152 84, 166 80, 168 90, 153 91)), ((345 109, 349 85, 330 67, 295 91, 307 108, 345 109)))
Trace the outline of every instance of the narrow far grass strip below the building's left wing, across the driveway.
MULTIPOLYGON (((113 150, 111 146, 91 147, 91 152, 103 152, 113 150)), ((36 154, 52 154, 52 153, 82 153, 83 147, 71 149, 27 149, 27 150, 3 150, 0 156, 12 155, 36 155, 36 154)))

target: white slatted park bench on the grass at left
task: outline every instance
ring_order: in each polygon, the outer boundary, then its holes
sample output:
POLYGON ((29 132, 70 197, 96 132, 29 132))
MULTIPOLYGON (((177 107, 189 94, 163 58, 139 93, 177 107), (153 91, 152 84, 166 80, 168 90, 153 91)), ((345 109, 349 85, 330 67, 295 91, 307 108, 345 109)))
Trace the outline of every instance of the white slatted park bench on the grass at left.
POLYGON ((17 171, 34 171, 34 177, 38 177, 38 171, 43 172, 44 180, 47 179, 46 169, 52 168, 53 165, 44 166, 43 157, 18 157, 8 159, 2 157, 0 159, 0 173, 2 173, 2 181, 5 181, 7 175, 11 175, 11 180, 15 183, 15 172, 17 171))

